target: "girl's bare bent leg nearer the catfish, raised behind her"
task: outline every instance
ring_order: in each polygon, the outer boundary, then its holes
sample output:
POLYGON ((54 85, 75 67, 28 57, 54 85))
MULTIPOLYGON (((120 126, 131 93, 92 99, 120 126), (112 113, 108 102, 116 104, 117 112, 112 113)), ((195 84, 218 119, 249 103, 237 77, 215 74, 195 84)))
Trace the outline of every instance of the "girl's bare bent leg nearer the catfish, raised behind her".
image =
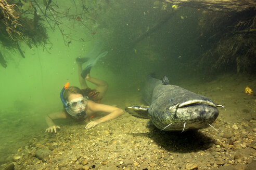
POLYGON ((91 83, 94 83, 97 86, 95 88, 95 90, 97 90, 99 92, 98 97, 100 99, 103 98, 104 94, 106 93, 106 91, 108 89, 108 83, 104 80, 100 80, 100 79, 91 77, 90 74, 87 74, 87 76, 85 77, 85 80, 87 80, 91 83))

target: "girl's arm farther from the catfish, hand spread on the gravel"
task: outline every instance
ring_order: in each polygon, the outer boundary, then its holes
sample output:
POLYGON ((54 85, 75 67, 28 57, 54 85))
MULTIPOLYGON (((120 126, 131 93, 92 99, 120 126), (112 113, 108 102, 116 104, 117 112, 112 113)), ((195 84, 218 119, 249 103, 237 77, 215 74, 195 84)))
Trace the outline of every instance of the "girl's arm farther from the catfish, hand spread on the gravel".
POLYGON ((60 111, 60 112, 55 112, 53 114, 49 114, 45 117, 45 121, 47 123, 47 125, 49 126, 45 132, 57 132, 57 129, 60 129, 60 126, 56 126, 53 122, 53 120, 56 119, 66 119, 67 115, 65 114, 65 112, 60 111))

